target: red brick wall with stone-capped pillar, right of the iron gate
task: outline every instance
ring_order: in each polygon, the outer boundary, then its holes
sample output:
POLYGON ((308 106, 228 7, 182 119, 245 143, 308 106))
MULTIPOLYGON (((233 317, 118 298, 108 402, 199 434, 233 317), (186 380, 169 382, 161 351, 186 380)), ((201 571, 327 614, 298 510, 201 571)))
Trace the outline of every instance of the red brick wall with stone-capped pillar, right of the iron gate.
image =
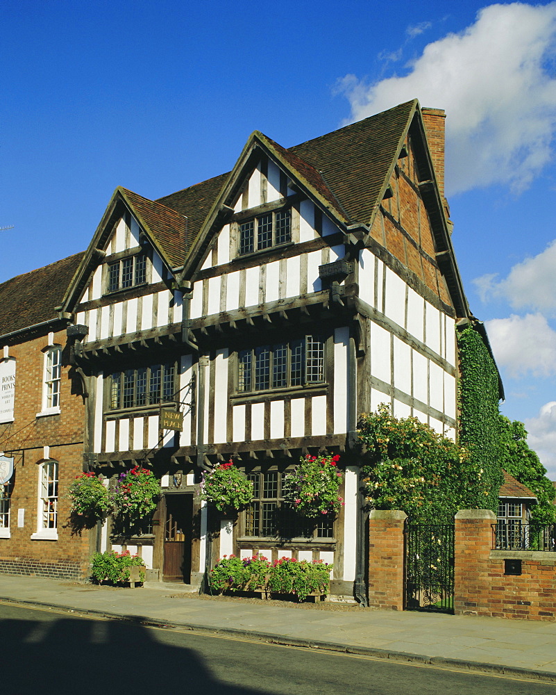
POLYGON ((556 620, 556 553, 491 550, 493 512, 455 517, 455 612, 556 620), (521 575, 505 574, 505 559, 521 559, 521 575))

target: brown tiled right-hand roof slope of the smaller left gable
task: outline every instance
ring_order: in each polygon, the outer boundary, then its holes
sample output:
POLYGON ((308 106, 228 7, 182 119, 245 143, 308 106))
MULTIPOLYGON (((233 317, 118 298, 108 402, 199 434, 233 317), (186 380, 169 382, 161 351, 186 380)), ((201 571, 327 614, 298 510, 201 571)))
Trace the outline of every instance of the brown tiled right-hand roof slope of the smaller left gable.
POLYGON ((149 229, 154 240, 160 244, 172 267, 183 264, 187 243, 187 220, 175 210, 148 198, 120 188, 128 199, 143 226, 149 229))

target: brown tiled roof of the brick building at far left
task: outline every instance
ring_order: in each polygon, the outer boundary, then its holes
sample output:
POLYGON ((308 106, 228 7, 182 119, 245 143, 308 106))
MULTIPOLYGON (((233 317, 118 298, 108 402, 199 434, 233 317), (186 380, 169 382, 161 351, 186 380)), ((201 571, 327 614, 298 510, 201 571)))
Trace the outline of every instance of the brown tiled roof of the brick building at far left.
POLYGON ((83 255, 74 254, 0 284, 0 337, 57 318, 54 307, 62 303, 83 255))

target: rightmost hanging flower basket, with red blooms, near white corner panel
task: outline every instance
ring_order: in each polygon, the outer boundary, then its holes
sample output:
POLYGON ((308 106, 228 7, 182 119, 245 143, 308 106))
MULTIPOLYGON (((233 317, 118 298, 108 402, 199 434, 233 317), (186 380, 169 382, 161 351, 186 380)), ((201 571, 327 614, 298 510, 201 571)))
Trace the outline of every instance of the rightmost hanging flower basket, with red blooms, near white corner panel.
POLYGON ((305 456, 285 476, 285 503, 308 518, 334 515, 344 506, 339 496, 343 475, 336 464, 339 456, 305 456))

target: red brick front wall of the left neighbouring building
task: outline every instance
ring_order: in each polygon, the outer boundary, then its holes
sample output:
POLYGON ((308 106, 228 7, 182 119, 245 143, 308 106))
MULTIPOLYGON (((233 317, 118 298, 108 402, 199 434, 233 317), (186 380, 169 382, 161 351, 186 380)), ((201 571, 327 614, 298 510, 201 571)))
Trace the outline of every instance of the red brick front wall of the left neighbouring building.
MULTIPOLYGON (((53 343, 66 344, 65 329, 53 343)), ((67 528, 67 490, 83 470, 85 409, 76 384, 70 379, 69 347, 62 352, 60 414, 37 418, 42 410, 44 352, 48 332, 9 346, 16 359, 15 420, 0 425, 0 451, 15 457, 12 478, 10 538, 0 538, 0 571, 17 574, 76 578, 85 575, 89 562, 89 533, 72 536, 67 528), (38 461, 43 447, 59 464, 58 540, 31 540, 37 531, 38 461), (24 526, 17 526, 17 510, 24 509, 24 526)), ((2 345, 0 345, 0 350, 2 345)), ((2 353, 0 352, 0 357, 2 353)))

